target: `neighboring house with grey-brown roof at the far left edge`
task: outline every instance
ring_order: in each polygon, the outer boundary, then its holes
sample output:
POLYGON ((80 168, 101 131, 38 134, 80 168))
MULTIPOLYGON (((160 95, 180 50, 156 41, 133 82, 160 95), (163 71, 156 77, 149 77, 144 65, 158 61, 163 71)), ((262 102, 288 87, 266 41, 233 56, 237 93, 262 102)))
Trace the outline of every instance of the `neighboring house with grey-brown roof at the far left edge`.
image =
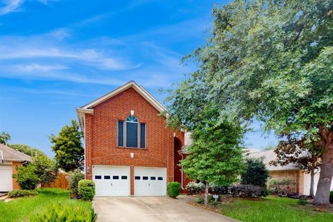
POLYGON ((6 192, 12 189, 19 189, 19 185, 13 173, 17 173, 17 167, 21 167, 25 162, 30 162, 31 157, 15 149, 0 144, 0 191, 6 192))

